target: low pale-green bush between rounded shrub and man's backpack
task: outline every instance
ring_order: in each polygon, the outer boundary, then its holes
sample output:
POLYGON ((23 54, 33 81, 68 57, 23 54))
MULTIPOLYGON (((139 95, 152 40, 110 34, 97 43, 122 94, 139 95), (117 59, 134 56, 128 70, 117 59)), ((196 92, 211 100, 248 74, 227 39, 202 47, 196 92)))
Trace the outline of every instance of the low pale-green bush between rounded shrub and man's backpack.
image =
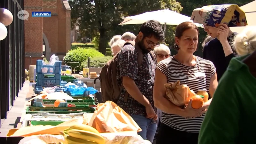
MULTIPOLYGON (((107 63, 109 60, 111 60, 113 57, 95 57, 92 58, 90 62, 90 68, 102 68, 105 63, 107 63)), ((88 60, 85 60, 82 64, 83 68, 88 67, 88 60)))

